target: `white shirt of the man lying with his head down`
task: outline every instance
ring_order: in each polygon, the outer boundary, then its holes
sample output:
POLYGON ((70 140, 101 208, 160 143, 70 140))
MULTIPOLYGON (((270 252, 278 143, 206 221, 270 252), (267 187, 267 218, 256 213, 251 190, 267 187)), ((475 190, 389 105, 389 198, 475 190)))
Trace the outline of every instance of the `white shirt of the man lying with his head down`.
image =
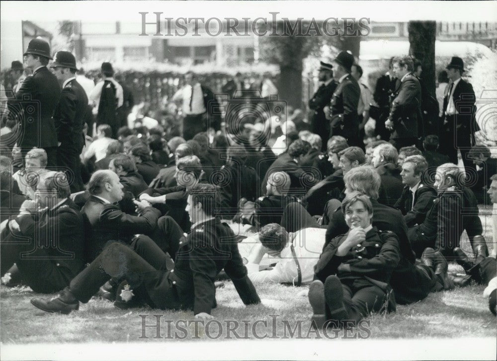
POLYGON ((248 277, 253 283, 261 282, 297 282, 297 265, 292 255, 290 245, 295 247, 295 254, 300 264, 302 284, 311 283, 314 279, 314 266, 319 260, 325 244, 326 229, 306 228, 296 232, 293 239, 283 248, 280 260, 269 271, 259 271, 259 265, 247 264, 248 277))

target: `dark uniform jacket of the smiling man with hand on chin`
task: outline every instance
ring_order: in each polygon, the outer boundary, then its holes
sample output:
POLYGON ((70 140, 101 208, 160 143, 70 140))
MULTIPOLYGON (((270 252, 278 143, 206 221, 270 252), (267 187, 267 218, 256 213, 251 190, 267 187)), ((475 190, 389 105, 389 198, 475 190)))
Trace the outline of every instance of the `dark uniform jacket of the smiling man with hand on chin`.
POLYGON ((365 241, 352 246, 346 255, 337 256, 336 250, 347 236, 348 233, 335 237, 326 245, 314 267, 318 279, 325 282, 328 276, 336 274, 340 279, 367 277, 388 284, 401 257, 397 236, 373 227, 366 233, 365 241), (350 265, 350 271, 338 270, 342 263, 350 265))

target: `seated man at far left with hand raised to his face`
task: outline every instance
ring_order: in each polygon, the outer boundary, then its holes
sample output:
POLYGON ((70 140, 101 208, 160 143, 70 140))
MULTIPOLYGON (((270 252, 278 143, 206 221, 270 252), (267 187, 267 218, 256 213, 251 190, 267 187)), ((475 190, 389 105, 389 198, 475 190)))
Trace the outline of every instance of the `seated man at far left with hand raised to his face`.
POLYGON ((42 176, 36 192, 37 201, 24 201, 2 234, 0 273, 15 263, 33 291, 53 293, 83 269, 83 216, 68 198, 64 173, 42 176))

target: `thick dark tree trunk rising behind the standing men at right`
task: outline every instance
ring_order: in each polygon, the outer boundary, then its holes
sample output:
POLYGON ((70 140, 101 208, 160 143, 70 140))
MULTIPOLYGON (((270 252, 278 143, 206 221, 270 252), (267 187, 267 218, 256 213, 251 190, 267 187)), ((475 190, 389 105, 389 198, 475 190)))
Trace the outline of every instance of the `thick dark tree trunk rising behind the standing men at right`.
POLYGON ((410 21, 409 54, 421 61, 423 72, 421 79, 426 90, 435 96, 435 21, 410 21))

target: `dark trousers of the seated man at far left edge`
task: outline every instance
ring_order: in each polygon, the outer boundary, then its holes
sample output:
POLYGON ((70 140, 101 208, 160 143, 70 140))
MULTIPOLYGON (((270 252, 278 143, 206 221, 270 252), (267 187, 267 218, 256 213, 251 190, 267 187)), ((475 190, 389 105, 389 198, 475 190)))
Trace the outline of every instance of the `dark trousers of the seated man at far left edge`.
POLYGON ((17 265, 21 278, 34 292, 54 293, 69 285, 72 273, 50 259, 46 248, 37 247, 34 239, 26 241, 5 230, 0 249, 0 273, 3 275, 13 264, 17 265), (33 251, 34 252, 31 252, 33 251), (22 256, 21 253, 29 253, 22 256), (29 258, 25 258, 25 257, 29 258), (22 257, 22 258, 21 258, 22 257))

